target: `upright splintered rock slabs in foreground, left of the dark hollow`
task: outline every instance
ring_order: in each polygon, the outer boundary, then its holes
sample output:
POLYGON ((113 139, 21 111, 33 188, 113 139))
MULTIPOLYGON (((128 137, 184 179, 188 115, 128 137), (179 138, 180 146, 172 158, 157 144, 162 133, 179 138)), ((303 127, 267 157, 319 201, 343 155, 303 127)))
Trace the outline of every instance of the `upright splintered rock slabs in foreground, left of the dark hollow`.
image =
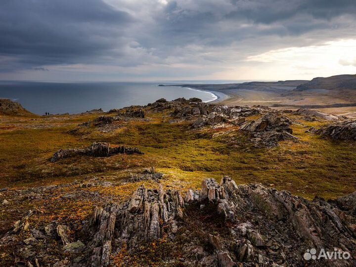
POLYGON ((131 200, 122 205, 95 208, 91 222, 97 231, 87 250, 91 254, 89 266, 109 265, 114 232, 114 249, 118 250, 124 245, 130 250, 141 241, 177 232, 177 219, 183 217, 183 205, 178 191, 164 191, 162 186, 159 190, 140 186, 131 200))

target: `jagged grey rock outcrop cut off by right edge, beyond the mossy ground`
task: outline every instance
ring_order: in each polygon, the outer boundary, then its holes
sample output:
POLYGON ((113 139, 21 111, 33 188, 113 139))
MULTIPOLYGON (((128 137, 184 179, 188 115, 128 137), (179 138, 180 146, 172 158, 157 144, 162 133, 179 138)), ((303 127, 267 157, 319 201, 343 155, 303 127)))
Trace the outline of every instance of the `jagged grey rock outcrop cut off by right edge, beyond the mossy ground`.
POLYGON ((339 122, 313 132, 338 140, 356 140, 356 120, 339 122))

